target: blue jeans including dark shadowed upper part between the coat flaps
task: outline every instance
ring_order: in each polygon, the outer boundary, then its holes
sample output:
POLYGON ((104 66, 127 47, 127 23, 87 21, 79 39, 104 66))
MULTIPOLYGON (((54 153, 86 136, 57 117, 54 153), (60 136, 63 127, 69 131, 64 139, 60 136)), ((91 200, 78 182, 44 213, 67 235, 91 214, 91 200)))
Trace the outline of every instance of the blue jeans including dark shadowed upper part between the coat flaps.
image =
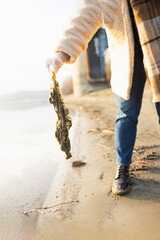
MULTIPOLYGON (((137 43, 135 45, 134 73, 130 99, 124 100, 120 96, 116 96, 118 108, 115 122, 117 165, 128 166, 131 164, 145 82, 143 54, 140 45, 137 43)), ((160 123, 160 102, 155 105, 160 123)))

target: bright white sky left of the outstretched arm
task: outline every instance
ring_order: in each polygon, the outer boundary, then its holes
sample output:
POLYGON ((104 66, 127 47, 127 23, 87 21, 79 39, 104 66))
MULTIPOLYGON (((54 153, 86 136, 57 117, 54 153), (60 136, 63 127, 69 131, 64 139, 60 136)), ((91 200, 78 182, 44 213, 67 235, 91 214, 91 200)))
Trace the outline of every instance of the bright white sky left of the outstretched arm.
POLYGON ((49 88, 46 59, 80 5, 81 0, 0 1, 0 95, 49 88))

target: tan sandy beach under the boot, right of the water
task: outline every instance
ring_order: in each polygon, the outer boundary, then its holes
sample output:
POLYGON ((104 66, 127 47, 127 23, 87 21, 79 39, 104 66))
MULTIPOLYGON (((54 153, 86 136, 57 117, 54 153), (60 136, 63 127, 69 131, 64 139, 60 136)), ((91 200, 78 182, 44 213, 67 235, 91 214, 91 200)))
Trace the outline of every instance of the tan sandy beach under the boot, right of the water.
POLYGON ((160 132, 148 87, 138 125, 133 166, 152 152, 156 152, 156 159, 145 163, 148 170, 132 172, 132 190, 123 197, 111 193, 116 168, 114 135, 103 131, 107 129, 112 133, 114 130, 116 107, 111 90, 80 99, 69 96, 66 103, 72 114, 76 114, 73 158, 61 164, 43 203, 43 207, 61 205, 39 213, 34 239, 159 240, 160 132), (89 129, 98 130, 89 133, 89 129), (87 164, 72 168, 76 160, 87 164))

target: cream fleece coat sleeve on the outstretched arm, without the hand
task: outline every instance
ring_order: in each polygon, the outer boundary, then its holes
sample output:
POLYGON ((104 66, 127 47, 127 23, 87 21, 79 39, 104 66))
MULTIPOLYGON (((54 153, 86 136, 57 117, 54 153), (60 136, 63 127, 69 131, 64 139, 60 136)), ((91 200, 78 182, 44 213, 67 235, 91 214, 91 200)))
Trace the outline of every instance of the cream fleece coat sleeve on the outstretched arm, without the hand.
POLYGON ((74 63, 77 57, 87 49, 88 42, 102 25, 102 10, 99 0, 83 0, 77 15, 64 31, 55 51, 70 56, 67 63, 74 63))

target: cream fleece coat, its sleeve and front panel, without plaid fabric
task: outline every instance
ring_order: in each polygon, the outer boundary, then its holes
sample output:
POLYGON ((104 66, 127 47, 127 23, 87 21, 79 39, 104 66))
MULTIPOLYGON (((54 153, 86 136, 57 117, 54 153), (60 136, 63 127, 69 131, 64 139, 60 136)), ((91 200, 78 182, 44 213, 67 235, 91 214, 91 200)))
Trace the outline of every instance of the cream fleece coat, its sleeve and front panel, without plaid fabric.
POLYGON ((134 37, 127 0, 83 0, 55 51, 65 52, 70 56, 68 63, 74 63, 103 21, 111 54, 112 91, 128 100, 134 70, 134 37))

